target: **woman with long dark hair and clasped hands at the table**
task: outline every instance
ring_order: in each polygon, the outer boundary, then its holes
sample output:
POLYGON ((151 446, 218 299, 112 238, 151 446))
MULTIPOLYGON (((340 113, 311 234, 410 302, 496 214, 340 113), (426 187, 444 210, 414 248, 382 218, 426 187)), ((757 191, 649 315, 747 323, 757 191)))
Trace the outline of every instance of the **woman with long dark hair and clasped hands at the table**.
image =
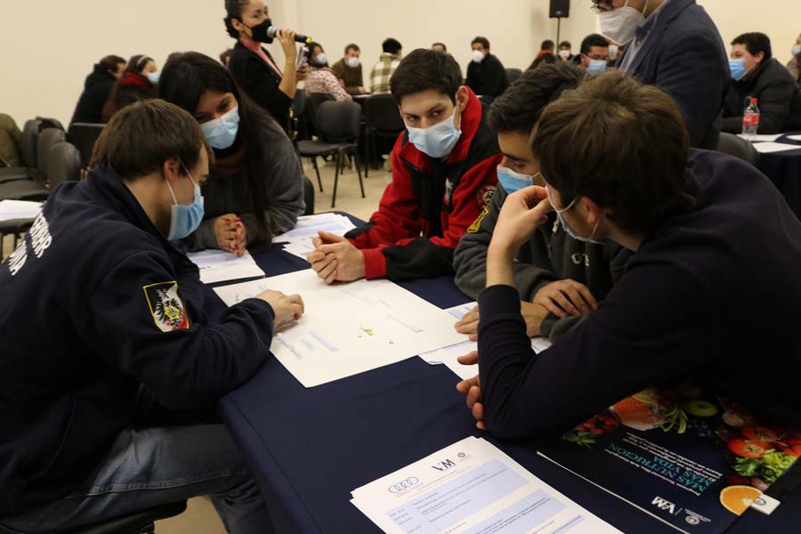
POLYGON ((214 150, 202 187, 203 221, 184 238, 190 251, 243 255, 270 247, 303 214, 303 170, 287 134, 239 88, 223 65, 197 52, 167 61, 159 97, 190 112, 214 150))

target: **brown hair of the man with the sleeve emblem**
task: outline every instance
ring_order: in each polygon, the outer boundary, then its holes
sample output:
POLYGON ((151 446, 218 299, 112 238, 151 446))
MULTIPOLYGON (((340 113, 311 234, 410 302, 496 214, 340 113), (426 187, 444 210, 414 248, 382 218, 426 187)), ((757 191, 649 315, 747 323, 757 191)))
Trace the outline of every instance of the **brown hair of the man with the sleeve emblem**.
POLYGON ((198 121, 174 104, 152 99, 117 112, 94 144, 89 166, 113 169, 125 180, 135 180, 160 170, 169 158, 194 168, 204 149, 211 166, 214 153, 198 121))

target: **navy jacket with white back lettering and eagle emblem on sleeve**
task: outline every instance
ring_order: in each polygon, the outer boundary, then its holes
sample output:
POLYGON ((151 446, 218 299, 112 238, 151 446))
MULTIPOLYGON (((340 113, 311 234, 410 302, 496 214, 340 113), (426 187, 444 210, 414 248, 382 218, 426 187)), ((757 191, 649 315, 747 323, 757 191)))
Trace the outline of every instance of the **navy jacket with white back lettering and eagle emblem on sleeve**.
POLYGON ((208 409, 269 353, 251 299, 206 325, 197 268, 114 172, 53 191, 0 266, 0 516, 66 495, 143 399, 208 409))

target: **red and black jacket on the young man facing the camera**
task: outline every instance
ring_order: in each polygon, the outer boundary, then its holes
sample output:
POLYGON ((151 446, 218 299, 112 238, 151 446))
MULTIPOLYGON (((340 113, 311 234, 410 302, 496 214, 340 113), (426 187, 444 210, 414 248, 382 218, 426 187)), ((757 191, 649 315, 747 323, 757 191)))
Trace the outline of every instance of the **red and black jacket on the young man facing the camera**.
MULTIPOLYGON (((368 279, 453 272, 453 251, 490 202, 503 156, 470 91, 462 135, 439 173, 404 132, 392 149, 392 182, 370 222, 347 235, 364 253, 368 279)), ((440 166, 441 167, 441 166, 440 166)))

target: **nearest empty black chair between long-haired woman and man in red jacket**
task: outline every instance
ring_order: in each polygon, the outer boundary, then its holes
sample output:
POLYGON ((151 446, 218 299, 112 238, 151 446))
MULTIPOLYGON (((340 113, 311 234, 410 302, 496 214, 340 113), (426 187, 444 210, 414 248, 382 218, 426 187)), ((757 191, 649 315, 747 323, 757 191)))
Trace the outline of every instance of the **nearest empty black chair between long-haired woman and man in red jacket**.
POLYGON ((361 126, 361 106, 352 101, 326 101, 317 109, 318 141, 302 141, 298 143, 298 153, 303 158, 311 158, 317 173, 317 182, 322 191, 320 168, 317 158, 335 156, 336 172, 334 174, 334 195, 331 207, 336 206, 336 187, 339 183, 339 171, 344 156, 352 154, 356 159, 356 172, 359 174, 361 198, 364 195, 364 182, 361 181, 359 164, 359 134, 361 126))

